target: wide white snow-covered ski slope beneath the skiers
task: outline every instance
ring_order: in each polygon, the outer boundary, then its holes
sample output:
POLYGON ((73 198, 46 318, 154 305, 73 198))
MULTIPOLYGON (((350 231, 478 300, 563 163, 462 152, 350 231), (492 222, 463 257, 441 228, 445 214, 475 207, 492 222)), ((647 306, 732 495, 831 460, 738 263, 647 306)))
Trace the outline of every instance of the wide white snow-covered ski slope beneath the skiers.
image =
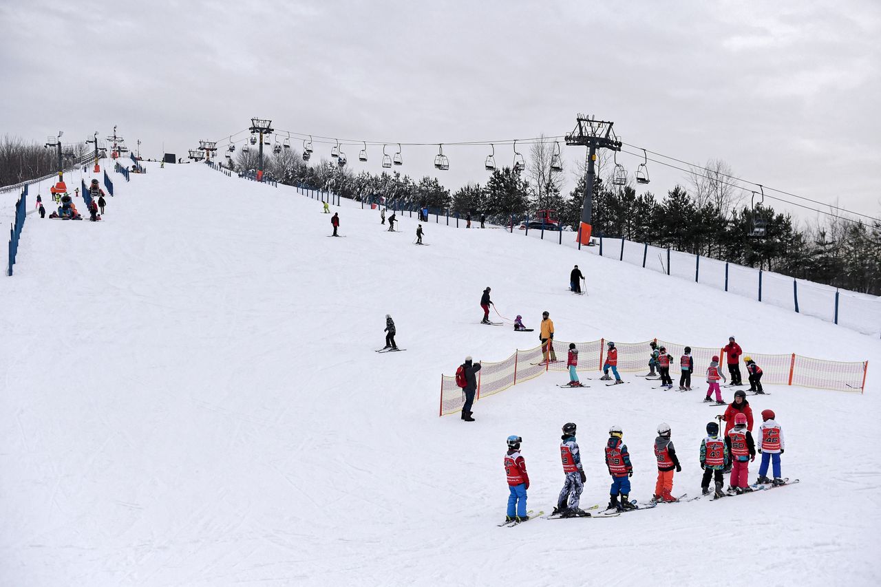
MULTIPOLYGON (((112 174, 105 221, 28 217, 0 280, 0 584, 877 585, 881 343, 809 316, 499 230, 385 232, 377 212, 212 171, 112 174), (589 296, 566 291, 579 264, 589 296), (522 435, 529 508, 550 511, 559 428, 578 424, 582 507, 608 500, 603 445, 624 428, 632 497, 655 484, 655 427, 700 492, 705 383, 563 390, 542 375, 438 418, 441 373, 499 360, 537 332, 665 338, 869 360, 864 395, 766 386, 794 487, 596 520, 498 528, 507 435, 522 435), (384 316, 404 353, 376 354, 384 316)), ((112 168, 112 166, 110 166, 112 168)), ((89 176, 86 176, 86 182, 89 176)), ((78 175, 70 177, 76 182, 78 175)), ((43 190, 44 195, 47 190, 43 190)), ((33 206, 33 196, 32 204, 33 206)), ((706 366, 696 366, 699 373, 706 366)), ((726 400, 731 390, 724 390, 726 400)), ((755 479, 758 461, 751 464, 755 479)))

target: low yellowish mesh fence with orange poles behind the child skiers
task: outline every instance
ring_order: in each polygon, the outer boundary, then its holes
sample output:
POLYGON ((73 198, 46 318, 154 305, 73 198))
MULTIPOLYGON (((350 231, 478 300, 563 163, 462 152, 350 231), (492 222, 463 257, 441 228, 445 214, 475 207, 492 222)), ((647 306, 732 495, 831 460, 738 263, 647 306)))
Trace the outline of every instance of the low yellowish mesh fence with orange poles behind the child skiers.
MULTIPOLYGON (((632 373, 648 369, 648 353, 650 340, 638 343, 615 343, 618 348, 618 371, 632 373)), ((491 396, 507 390, 517 383, 529 381, 538 375, 550 371, 565 373, 566 360, 554 361, 555 351, 559 350, 560 358, 565 356, 569 342, 554 340, 550 349, 551 361, 547 361, 543 346, 536 346, 525 351, 516 350, 507 359, 489 362, 480 361, 478 371, 478 390, 475 400, 491 396)), ((680 374, 679 357, 685 353, 685 345, 657 340, 659 346, 665 346, 673 356, 670 364, 670 376, 680 374)), ((578 349, 578 367, 580 372, 601 371, 603 369, 605 339, 591 342, 575 343, 578 349)), ((725 354, 720 348, 692 346, 694 359, 693 377, 702 380, 706 368, 714 355, 718 355, 724 364, 725 354)), ((762 368, 762 383, 772 385, 797 385, 822 390, 864 391, 869 361, 837 361, 812 359, 796 353, 765 354, 746 353, 762 368)), ((723 371, 724 372, 724 371, 723 371)), ((692 385, 694 382, 692 381, 692 385)), ((464 405, 463 390, 455 384, 455 375, 441 375, 441 409, 439 416, 460 412, 464 405)))

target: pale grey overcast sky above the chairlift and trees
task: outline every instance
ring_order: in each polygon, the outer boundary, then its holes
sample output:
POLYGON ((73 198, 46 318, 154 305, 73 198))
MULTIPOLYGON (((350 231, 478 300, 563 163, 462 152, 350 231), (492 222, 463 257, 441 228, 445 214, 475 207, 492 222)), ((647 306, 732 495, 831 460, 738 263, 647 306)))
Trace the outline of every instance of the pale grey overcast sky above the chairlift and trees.
MULTIPOLYGON (((629 144, 722 159, 745 179, 879 217, 879 40, 877 0, 0 0, 0 134, 83 140, 116 124, 144 157, 163 145, 185 156, 252 116, 329 137, 450 143, 562 135, 582 112, 614 121, 629 144)), ((380 149, 366 164, 358 150, 346 148, 352 168, 381 170, 380 149)), ((447 172, 433 168, 436 151, 404 147, 402 173, 485 182, 486 147, 446 148, 447 172)), ((584 149, 563 153, 571 187, 584 149)), ((497 147, 500 165, 512 156, 497 147)), ((649 170, 640 191, 685 182, 649 170)))

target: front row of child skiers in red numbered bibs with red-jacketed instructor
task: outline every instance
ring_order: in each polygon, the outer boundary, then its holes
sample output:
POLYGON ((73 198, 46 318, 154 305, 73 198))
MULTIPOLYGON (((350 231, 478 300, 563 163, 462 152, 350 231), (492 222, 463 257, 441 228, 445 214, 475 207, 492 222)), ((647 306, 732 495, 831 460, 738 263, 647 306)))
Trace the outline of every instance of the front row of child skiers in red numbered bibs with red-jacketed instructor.
MULTIPOLYGON (((704 472, 700 488, 703 495, 711 493, 709 488, 711 480, 714 480, 715 483, 712 492, 714 499, 722 498, 726 494, 737 495, 751 492, 753 489, 749 485, 747 477, 749 464, 755 460, 757 451, 761 453, 762 459, 756 485, 770 485, 772 487, 785 485, 786 481, 781 478, 780 464, 780 457, 784 451, 781 425, 775 420, 776 416, 773 410, 763 410, 761 415, 763 421, 759 427, 758 447, 752 438, 752 412, 743 391, 737 391, 735 402, 729 406, 729 410, 726 410, 723 416, 719 417, 719 420, 727 422, 723 435, 720 435, 719 423, 709 422, 707 424, 707 436, 700 441, 700 468, 704 472), (773 468, 774 479, 767 477, 769 465, 773 468), (730 471, 730 487, 725 492, 722 490, 724 486, 723 474, 728 471, 730 471)), ((575 432, 576 426, 573 422, 567 422, 563 426, 559 451, 565 479, 552 516, 590 516, 589 512, 580 507, 581 492, 584 489, 587 475, 581 464, 581 451, 575 440, 575 432)), ((679 463, 677 452, 670 440, 670 432, 670 426, 666 423, 657 427, 654 450, 658 473, 652 502, 678 501, 672 494, 673 474, 681 472, 682 465, 679 463)), ((606 511, 620 512, 638 508, 630 501, 630 478, 633 477, 633 464, 631 464, 630 453, 623 438, 624 432, 621 427, 613 426, 609 429, 609 440, 604 448, 605 464, 611 476, 610 499, 606 511)), ((507 453, 504 463, 510 495, 507 501, 506 523, 519 523, 529 519, 526 508, 529 475, 526 472, 526 461, 520 452, 521 443, 520 436, 507 437, 507 453)))

